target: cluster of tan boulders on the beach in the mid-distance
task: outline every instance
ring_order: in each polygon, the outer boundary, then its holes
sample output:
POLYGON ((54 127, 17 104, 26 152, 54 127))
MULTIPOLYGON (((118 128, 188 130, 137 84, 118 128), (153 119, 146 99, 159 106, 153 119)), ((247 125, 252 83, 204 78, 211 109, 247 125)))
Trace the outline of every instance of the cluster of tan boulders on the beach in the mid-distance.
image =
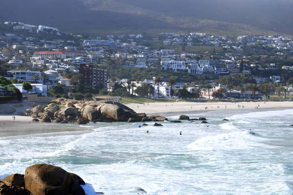
POLYGON ((77 101, 58 98, 46 106, 36 105, 26 109, 33 121, 87 124, 88 122, 148 122, 165 121, 166 117, 137 114, 126 105, 113 101, 77 101))

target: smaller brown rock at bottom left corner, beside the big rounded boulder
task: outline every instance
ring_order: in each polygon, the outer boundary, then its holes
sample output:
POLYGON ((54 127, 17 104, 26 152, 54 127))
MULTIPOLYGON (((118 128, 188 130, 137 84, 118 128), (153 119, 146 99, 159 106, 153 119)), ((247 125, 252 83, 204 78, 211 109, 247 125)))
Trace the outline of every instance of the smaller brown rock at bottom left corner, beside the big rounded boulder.
POLYGON ((1 181, 17 195, 27 195, 28 194, 27 191, 24 189, 24 175, 13 174, 11 176, 7 176, 7 177, 1 179, 1 181))

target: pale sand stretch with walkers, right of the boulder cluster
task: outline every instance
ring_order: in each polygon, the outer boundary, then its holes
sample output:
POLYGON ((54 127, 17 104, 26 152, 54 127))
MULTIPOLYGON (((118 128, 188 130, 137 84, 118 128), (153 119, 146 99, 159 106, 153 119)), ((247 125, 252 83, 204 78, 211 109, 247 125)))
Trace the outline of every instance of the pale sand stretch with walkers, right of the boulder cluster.
POLYGON ((137 113, 146 113, 146 115, 154 114, 167 114, 167 113, 188 113, 188 112, 201 112, 212 110, 234 110, 234 109, 266 109, 266 108, 293 108, 293 101, 284 102, 175 102, 174 103, 145 103, 145 104, 126 104, 129 108, 137 113), (238 108, 238 105, 241 105, 238 108), (259 107, 258 107, 259 105, 259 107), (219 106, 220 108, 217 108, 219 106), (242 107, 244 106, 244 108, 242 107), (205 110, 205 107, 208 107, 205 110))

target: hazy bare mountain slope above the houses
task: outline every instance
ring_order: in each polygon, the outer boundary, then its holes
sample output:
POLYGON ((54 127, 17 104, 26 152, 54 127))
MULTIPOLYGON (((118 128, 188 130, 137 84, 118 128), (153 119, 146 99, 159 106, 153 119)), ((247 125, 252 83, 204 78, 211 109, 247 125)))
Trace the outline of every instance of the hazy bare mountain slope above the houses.
POLYGON ((293 0, 2 0, 0 21, 90 34, 293 34, 293 0))

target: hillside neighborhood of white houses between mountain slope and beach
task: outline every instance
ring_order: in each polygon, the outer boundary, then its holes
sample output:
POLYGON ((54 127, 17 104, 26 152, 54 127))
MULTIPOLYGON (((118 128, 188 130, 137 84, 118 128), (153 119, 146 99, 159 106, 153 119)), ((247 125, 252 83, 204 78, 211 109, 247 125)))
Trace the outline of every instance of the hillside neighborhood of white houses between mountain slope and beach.
MULTIPOLYGON (((23 94, 54 96, 56 94, 47 92, 58 85, 63 87, 63 93, 72 95, 84 92, 81 90, 83 87, 76 89, 83 83, 88 91, 97 90, 95 92, 113 96, 183 98, 179 91, 184 89, 194 94, 184 98, 262 98, 260 87, 256 93, 251 88, 241 92, 237 85, 229 89, 230 82, 218 83, 219 78, 233 75, 244 75, 252 80, 252 84, 259 86, 262 83, 287 86, 288 94, 292 93, 289 87, 292 83, 288 85, 287 82, 293 67, 290 37, 225 37, 207 33, 83 37, 45 25, 22 22, 4 22, 1 25, 9 33, 0 35, 0 75, 8 80, 17 80, 18 83, 13 85, 23 94), (131 69, 157 71, 157 74, 151 77, 139 74, 137 78, 130 78, 127 74, 113 76, 117 67, 128 68, 129 72, 131 69), (160 76, 165 73, 168 73, 167 77, 160 76), (176 77, 176 82, 170 86, 172 74, 185 76, 176 77), (74 82, 72 77, 78 75, 81 77, 74 82), (160 79, 156 81, 158 76, 160 79), (33 89, 24 90, 22 82, 30 82, 33 89), (117 90, 118 83, 118 89, 124 88, 128 95, 117 90), (140 89, 146 85, 153 89, 143 93, 140 89), (209 90, 207 85, 211 86, 209 90), (222 90, 222 96, 212 96, 218 90, 222 90)), ((3 87, 1 90, 0 96, 7 95, 8 91, 5 92, 3 87)), ((281 91, 275 93, 284 94, 284 90, 281 91)))

